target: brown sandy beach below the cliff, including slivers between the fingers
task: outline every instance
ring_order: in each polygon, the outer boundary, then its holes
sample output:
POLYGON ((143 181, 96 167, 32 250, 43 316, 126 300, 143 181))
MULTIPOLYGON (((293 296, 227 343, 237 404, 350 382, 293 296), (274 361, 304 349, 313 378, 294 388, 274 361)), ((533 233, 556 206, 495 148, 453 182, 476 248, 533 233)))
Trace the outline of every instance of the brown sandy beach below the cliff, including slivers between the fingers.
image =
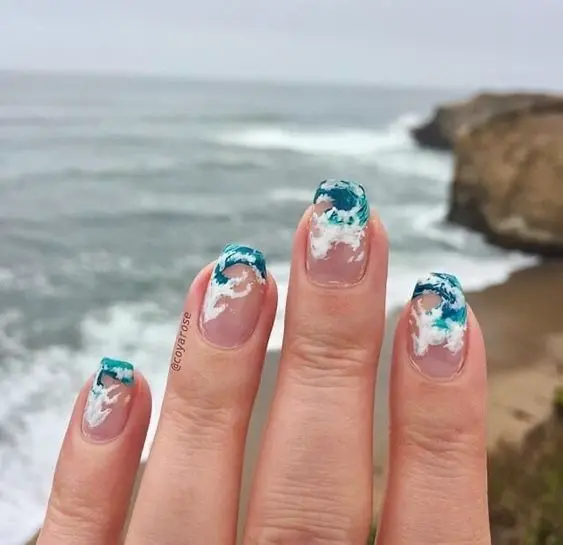
MULTIPOLYGON (((563 261, 547 261, 504 282, 467 293, 488 354, 487 444, 519 442, 549 414, 553 390, 563 384, 563 261)), ((398 309, 387 316, 376 391, 374 514, 384 493, 387 450, 387 382, 398 309)), ((269 352, 247 437, 240 517, 244 518, 260 433, 274 391, 280 352, 269 352)), ((27 545, 35 543, 35 538, 27 545)))

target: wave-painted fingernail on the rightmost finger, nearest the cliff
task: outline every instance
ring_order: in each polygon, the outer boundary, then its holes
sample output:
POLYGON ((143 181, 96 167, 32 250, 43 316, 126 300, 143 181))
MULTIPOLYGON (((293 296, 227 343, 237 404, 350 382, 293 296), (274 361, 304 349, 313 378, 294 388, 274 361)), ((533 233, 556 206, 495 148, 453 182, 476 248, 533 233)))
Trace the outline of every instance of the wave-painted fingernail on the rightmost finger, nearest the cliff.
POLYGON ((411 301, 410 356, 431 378, 451 378, 465 360, 467 305, 459 280, 430 273, 418 281, 411 301))

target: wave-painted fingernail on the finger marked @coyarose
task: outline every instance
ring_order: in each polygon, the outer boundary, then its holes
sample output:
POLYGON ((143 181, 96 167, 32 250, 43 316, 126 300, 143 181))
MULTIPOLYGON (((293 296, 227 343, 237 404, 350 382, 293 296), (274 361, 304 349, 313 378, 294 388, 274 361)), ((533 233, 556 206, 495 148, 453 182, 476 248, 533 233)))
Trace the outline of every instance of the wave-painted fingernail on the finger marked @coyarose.
POLYGON ((259 250, 229 244, 211 273, 200 328, 208 341, 240 346, 252 335, 266 290, 266 260, 259 250))

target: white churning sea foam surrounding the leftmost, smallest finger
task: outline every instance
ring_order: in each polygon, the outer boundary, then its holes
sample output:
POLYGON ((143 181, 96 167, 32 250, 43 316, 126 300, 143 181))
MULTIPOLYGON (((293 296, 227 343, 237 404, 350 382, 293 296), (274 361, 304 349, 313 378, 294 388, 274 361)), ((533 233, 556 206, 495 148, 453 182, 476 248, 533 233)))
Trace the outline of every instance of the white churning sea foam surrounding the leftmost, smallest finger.
MULTIPOLYGON (((6 348, 4 322, 0 350, 6 348)), ((0 426, 7 438, 0 443, 2 545, 21 545, 40 526, 74 397, 104 355, 134 362, 150 381, 154 417, 146 457, 177 326, 154 306, 117 305, 104 315, 85 317, 79 351, 53 346, 28 352, 18 338, 8 338, 13 357, 3 372, 10 380, 0 382, 0 426)))

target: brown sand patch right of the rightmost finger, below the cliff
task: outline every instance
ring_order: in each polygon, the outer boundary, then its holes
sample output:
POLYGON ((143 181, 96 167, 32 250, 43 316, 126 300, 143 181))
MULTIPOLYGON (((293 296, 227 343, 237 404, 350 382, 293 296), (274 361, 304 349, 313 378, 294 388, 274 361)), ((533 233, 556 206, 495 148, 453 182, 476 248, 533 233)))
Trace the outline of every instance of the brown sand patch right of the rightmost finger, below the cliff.
POLYGON ((513 273, 468 295, 488 356, 488 444, 520 442, 563 384, 563 261, 513 273))

